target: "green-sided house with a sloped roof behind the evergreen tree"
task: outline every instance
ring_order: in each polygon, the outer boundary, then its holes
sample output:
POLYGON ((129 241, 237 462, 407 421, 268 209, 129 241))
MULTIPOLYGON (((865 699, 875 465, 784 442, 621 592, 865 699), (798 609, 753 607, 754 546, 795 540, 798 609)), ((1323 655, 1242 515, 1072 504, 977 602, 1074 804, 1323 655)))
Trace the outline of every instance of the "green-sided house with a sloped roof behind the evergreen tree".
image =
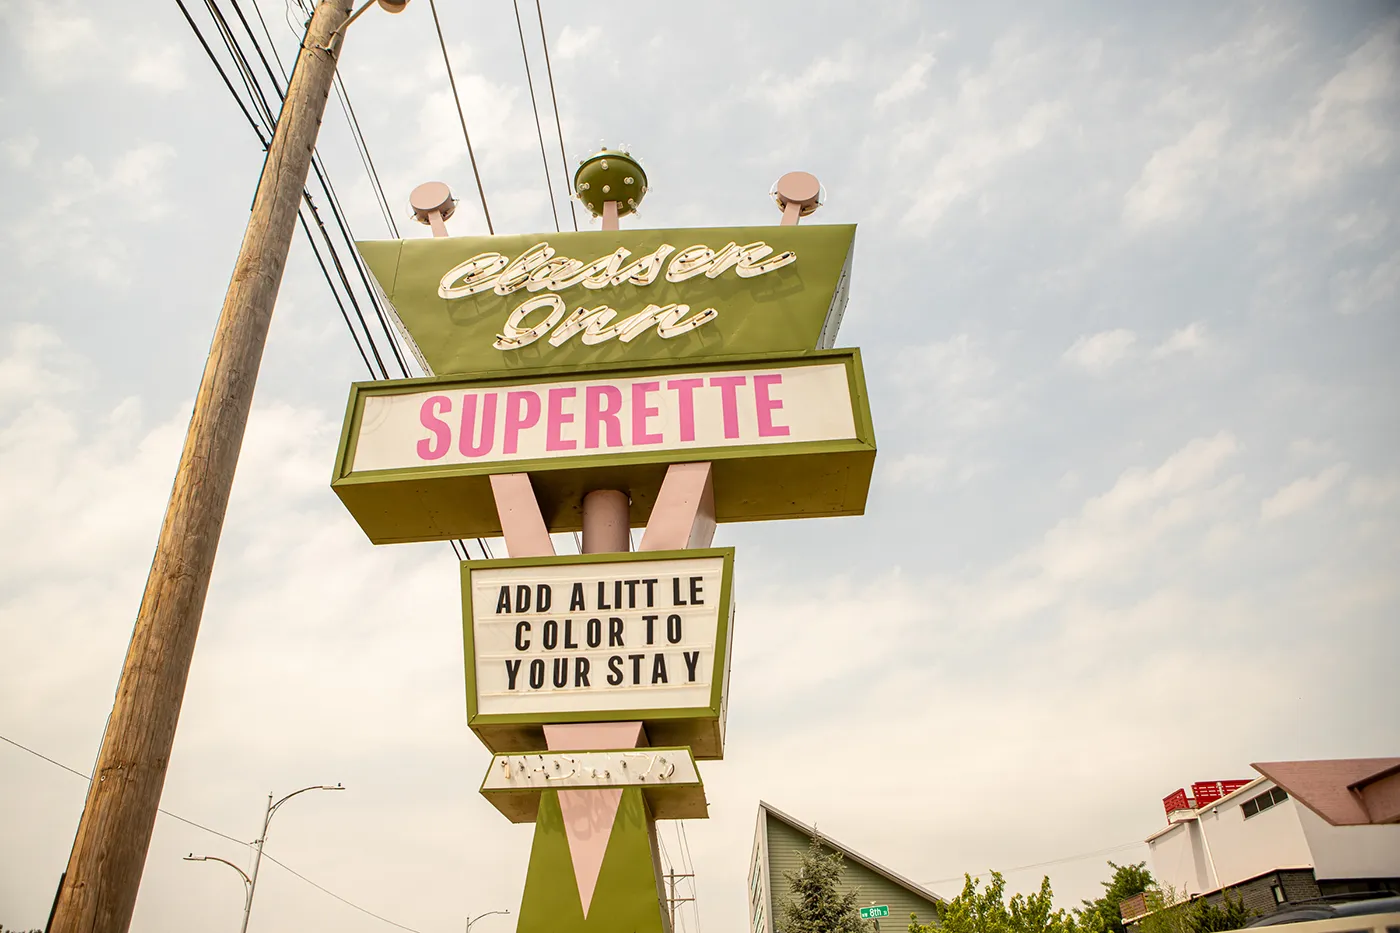
POLYGON ((903 933, 909 915, 917 913, 924 923, 938 916, 937 905, 944 904, 928 888, 895 874, 878 862, 822 835, 815 827, 798 822, 781 810, 759 801, 759 824, 753 832, 753 853, 749 857, 749 929, 752 933, 773 933, 774 919, 788 897, 787 873, 795 873, 802 853, 816 839, 826 852, 844 859, 840 892, 855 891, 861 906, 885 905, 889 918, 875 920, 872 930, 903 933))

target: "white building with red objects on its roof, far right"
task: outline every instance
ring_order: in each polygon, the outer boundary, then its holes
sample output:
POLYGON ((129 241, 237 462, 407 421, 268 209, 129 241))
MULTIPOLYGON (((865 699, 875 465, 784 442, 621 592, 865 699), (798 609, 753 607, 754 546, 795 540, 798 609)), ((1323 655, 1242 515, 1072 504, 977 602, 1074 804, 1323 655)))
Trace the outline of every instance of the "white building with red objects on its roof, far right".
MULTIPOLYGON (((1365 759, 1380 776, 1394 773, 1400 759, 1365 759)), ((1305 803, 1317 786, 1316 775, 1350 775, 1358 762, 1287 762, 1315 765, 1305 803)), ((1256 766, 1264 772, 1270 765, 1256 766)), ((1303 773, 1299 769, 1289 775, 1303 773)), ((1280 773, 1282 778, 1282 772, 1280 773)), ((1289 778, 1282 778, 1289 780, 1289 778)), ((1386 778, 1389 779, 1389 778, 1386 778)), ((1375 778, 1372 778, 1375 780, 1375 778)), ((1333 778, 1336 783, 1336 778, 1333 778)), ((1301 785, 1302 787, 1302 785, 1301 785)), ((1338 785, 1358 794, 1354 785, 1338 785)), ((1282 905, 1340 894, 1390 890, 1400 894, 1400 824, 1333 825, 1303 806, 1275 780, 1203 782, 1163 800, 1166 827, 1147 838, 1158 884, 1189 897, 1217 899, 1228 891, 1257 915, 1282 905)), ((1124 919, 1135 919, 1124 902, 1124 919)), ((1140 916, 1145 909, 1137 905, 1140 916)))

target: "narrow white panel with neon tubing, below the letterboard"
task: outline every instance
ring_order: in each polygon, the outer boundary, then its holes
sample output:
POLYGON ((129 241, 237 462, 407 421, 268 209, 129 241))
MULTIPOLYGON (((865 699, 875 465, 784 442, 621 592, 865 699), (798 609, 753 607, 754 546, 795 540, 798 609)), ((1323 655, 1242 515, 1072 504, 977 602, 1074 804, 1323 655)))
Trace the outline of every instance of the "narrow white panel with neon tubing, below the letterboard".
POLYGON ((696 783, 700 783, 700 772, 689 748, 638 748, 497 755, 482 792, 696 783))

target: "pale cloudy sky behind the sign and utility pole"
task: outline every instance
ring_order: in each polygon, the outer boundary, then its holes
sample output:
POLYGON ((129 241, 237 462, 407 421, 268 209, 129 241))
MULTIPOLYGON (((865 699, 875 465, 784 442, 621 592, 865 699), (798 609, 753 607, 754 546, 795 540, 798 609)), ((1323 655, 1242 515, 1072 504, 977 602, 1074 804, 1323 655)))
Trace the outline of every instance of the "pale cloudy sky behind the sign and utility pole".
MULTIPOLYGON (((497 230, 553 230, 510 4, 440 8, 497 230)), ((742 929, 759 799, 945 892, 1067 859, 1011 884, 1072 904, 1184 783, 1397 754, 1394 4, 543 10, 571 158, 645 160, 634 226, 776 223, 791 170, 829 191, 808 223, 860 224, 869 507, 720 530, 727 759, 711 820, 662 829, 687 932, 742 929)), ((427 3, 343 60, 400 223, 442 179, 484 233, 427 3)), ((321 151, 386 235, 335 105, 321 151)), ((174 3, 0 0, 0 734, 80 772, 260 157, 174 3)), ((531 829, 476 793, 452 552, 371 546, 329 489, 357 378, 298 234, 164 807, 251 839, 269 790, 343 782, 267 852, 445 933, 518 908, 531 829)), ((84 787, 0 742, 0 923, 42 926, 84 787)), ((134 930, 235 929, 189 852, 248 860, 161 817, 134 930)), ((273 864, 253 926, 393 929, 273 864)))

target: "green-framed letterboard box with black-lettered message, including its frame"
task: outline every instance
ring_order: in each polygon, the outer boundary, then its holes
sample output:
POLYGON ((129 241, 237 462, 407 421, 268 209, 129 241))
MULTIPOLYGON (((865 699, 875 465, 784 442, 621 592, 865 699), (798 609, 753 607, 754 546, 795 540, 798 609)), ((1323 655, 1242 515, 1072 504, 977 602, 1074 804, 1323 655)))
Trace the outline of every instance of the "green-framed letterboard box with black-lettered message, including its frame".
POLYGON ((493 751, 546 723, 641 720, 720 754, 732 548, 462 563, 468 723, 493 751))

